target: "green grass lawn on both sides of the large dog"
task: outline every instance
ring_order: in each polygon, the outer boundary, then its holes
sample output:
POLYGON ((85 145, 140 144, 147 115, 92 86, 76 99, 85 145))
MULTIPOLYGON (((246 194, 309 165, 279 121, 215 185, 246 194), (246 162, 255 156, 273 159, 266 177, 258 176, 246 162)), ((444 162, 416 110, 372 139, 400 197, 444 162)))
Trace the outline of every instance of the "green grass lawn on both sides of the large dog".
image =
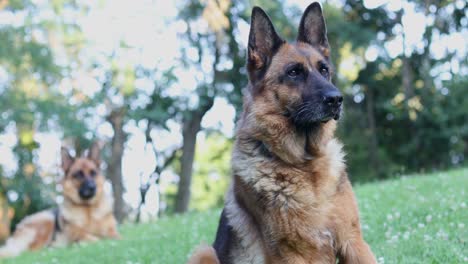
MULTIPOLYGON (((355 187, 365 238, 381 263, 468 262, 468 169, 355 187)), ((211 243, 219 210, 121 227, 123 239, 26 253, 5 263, 185 263, 211 243)))

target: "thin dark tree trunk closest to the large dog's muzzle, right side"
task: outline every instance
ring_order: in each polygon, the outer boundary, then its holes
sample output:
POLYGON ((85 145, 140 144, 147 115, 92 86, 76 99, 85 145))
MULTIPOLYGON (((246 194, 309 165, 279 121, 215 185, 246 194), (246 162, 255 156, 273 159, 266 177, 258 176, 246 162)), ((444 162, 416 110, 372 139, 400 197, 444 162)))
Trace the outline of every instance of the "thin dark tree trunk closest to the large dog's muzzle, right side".
POLYGON ((369 129, 369 161, 371 170, 375 172, 377 178, 382 176, 380 161, 379 161, 379 143, 377 139, 377 126, 375 122, 375 111, 374 111, 374 91, 372 88, 367 87, 366 94, 366 108, 367 108, 367 122, 369 129))

